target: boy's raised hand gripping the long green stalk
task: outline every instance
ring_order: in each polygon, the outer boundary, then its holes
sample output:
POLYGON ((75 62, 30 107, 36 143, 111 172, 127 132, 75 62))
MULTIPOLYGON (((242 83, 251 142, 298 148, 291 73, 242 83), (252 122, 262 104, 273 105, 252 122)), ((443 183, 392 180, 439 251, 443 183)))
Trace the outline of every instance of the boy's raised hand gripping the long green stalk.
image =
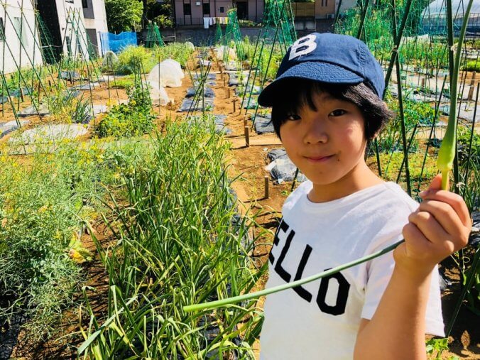
POLYGON ((394 253, 396 263, 414 273, 429 272, 435 264, 468 243, 471 219, 460 195, 441 190, 437 175, 428 190, 420 192, 422 203, 403 228, 404 246, 394 253))

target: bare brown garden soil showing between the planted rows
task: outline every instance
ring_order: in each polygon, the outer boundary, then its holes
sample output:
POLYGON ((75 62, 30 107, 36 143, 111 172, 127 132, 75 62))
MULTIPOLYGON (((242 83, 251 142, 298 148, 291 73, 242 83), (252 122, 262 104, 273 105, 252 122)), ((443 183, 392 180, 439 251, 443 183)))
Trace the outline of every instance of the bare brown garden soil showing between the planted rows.
MULTIPOLYGON (((190 65, 193 68, 193 64, 190 65)), ((231 129, 231 134, 226 136, 226 141, 231 143, 231 150, 227 154, 229 162, 230 178, 238 177, 232 187, 236 192, 239 201, 239 211, 243 214, 249 213, 256 217, 258 227, 254 227, 255 236, 258 236, 256 246, 251 256, 259 260, 268 261, 268 252, 273 242, 273 234, 276 230, 281 217, 281 208, 286 197, 290 194, 291 182, 283 182, 280 185, 273 185, 273 182, 264 170, 268 164, 267 152, 272 148, 280 148, 280 141, 272 133, 257 135, 255 131, 249 132, 250 146, 246 146, 244 137, 244 116, 245 110, 240 111, 239 104, 241 98, 234 97, 234 89, 225 86, 228 82, 226 74, 219 72, 217 62, 212 62, 212 73, 216 74, 216 85, 212 86, 214 91, 214 109, 213 114, 227 115, 225 121, 226 126, 231 129), (224 81, 225 80, 225 81, 224 81), (235 111, 234 111, 235 102, 235 111), (266 197, 266 176, 268 176, 268 197, 266 197)), ((165 121, 176 119, 183 121, 185 116, 178 113, 177 110, 185 97, 187 89, 192 86, 190 77, 187 75, 182 80, 181 87, 167 88, 168 96, 173 102, 165 107, 154 107, 154 111, 158 114, 158 129, 164 131, 165 121)), ((125 100, 126 93, 124 89, 119 89, 119 99, 125 100)), ((111 90, 111 98, 116 98, 116 90, 111 90), (114 97, 115 96, 115 97, 114 97)), ((110 101, 111 101, 110 98, 110 101)), ((106 85, 102 85, 99 89, 94 90, 94 103, 107 104, 109 101, 108 90, 106 85)), ((25 104, 25 106, 28 104, 25 104)), ((251 114, 251 110, 249 114, 251 114)), ((13 115, 13 114, 12 114, 13 115)), ((1 114, 0 114, 1 116, 1 114)), ((7 112, 6 112, 7 116, 7 112)), ((13 116, 12 116, 13 117, 13 116)), ((0 120, 1 121, 1 120, 0 120)), ((44 124, 47 119, 39 119, 38 116, 31 117, 29 128, 36 124, 44 124)), ((251 121, 249 121, 251 126, 251 121)), ((11 136, 11 135, 9 135, 11 136)), ((5 138, 8 138, 6 136, 5 138)), ((91 136, 91 134, 90 134, 91 136)), ((1 139, 3 143, 6 139, 1 139)), ((84 138, 84 140, 88 140, 84 138)), ((376 167, 375 162, 369 160, 371 167, 376 167)), ((110 234, 105 229, 102 222, 93 224, 94 231, 99 237, 102 246, 109 245, 110 234)), ((95 252, 95 246, 91 236, 85 234, 82 237, 84 246, 95 252)), ((96 258, 92 263, 84 264, 86 273, 86 283, 89 286, 89 298, 92 299, 92 305, 95 312, 99 314, 105 312, 104 299, 108 292, 108 277, 104 271, 102 263, 96 258)), ((459 274, 453 261, 444 261, 442 270, 447 278, 452 281, 452 286, 443 295, 443 310, 445 322, 452 316, 452 309, 456 302, 456 296, 459 294, 459 274)), ((257 288, 263 288, 267 280, 264 276, 259 280, 257 288)), ((82 298, 82 294, 77 295, 82 298)), ((263 307, 263 298, 258 300, 258 307, 263 307)), ((28 339, 20 336, 18 346, 14 349, 12 359, 75 359, 75 348, 82 342, 78 328, 78 310, 69 310, 65 312, 62 324, 59 324, 60 332, 55 339, 50 339, 42 344, 29 344, 28 339), (75 336, 72 336, 75 335, 75 336), (58 340, 61 339, 61 340, 58 340)), ((466 307, 462 307, 457 323, 454 326, 452 336, 450 337, 450 352, 444 352, 442 359, 448 359, 449 356, 458 356, 460 359, 479 359, 480 358, 480 334, 478 327, 478 317, 473 315, 466 307), (477 325, 477 326, 476 326, 477 325)), ((83 315, 82 324, 84 327, 88 324, 88 319, 83 315)), ((254 344, 256 358, 258 359, 259 344, 254 344)))

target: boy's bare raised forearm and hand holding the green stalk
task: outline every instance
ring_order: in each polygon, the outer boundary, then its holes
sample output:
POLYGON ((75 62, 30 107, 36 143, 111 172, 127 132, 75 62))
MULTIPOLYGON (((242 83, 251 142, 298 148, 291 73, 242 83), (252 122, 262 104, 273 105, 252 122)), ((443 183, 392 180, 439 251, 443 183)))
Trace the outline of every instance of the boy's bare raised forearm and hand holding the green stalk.
POLYGON ((425 359, 430 276, 443 258, 467 244, 471 220, 462 197, 439 190, 437 176, 403 228, 395 268, 371 320, 361 320, 354 359, 425 359))

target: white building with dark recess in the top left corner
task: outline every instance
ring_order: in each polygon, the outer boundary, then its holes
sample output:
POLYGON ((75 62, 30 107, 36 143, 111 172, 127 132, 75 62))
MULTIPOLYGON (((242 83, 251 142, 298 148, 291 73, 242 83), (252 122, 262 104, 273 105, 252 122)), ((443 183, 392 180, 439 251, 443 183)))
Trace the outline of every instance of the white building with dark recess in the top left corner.
POLYGON ((0 71, 42 64, 45 37, 36 12, 48 29, 55 60, 62 55, 88 59, 92 50, 102 53, 100 32, 108 31, 104 0, 0 0, 0 34, 5 34, 0 38, 0 71))

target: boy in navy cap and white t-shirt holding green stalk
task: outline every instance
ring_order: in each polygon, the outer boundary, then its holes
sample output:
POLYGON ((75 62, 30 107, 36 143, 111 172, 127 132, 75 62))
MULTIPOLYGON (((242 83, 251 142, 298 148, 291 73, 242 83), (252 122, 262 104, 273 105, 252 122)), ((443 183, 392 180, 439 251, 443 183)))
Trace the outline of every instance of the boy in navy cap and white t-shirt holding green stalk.
POLYGON ((413 201, 366 165, 391 111, 383 71, 350 36, 312 33, 258 97, 308 181, 283 205, 267 288, 405 243, 367 263, 268 295, 261 359, 425 359, 444 336, 436 264, 467 244, 471 220, 440 175, 413 201))

